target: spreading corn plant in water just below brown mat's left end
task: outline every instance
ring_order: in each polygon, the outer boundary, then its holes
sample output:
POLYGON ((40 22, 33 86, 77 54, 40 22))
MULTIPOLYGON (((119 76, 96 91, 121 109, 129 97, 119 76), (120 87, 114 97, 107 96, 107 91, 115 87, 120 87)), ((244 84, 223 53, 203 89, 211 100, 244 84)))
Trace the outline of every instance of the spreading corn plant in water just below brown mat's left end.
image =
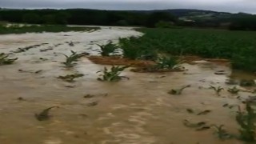
POLYGON ((120 74, 123 70, 125 70, 128 67, 129 66, 112 66, 110 70, 104 67, 104 70, 97 72, 102 72, 102 74, 100 74, 101 78, 98 78, 98 81, 118 82, 122 78, 127 78, 125 76, 120 76, 120 74))

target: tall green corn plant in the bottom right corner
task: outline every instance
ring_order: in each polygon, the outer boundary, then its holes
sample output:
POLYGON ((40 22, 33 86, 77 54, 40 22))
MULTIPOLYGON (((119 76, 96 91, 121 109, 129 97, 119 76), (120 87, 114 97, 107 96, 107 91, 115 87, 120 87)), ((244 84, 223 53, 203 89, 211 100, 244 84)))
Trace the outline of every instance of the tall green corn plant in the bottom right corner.
POLYGON ((243 112, 240 106, 238 107, 236 121, 240 126, 239 138, 242 141, 255 142, 255 120, 256 112, 250 102, 246 102, 246 112, 243 112))

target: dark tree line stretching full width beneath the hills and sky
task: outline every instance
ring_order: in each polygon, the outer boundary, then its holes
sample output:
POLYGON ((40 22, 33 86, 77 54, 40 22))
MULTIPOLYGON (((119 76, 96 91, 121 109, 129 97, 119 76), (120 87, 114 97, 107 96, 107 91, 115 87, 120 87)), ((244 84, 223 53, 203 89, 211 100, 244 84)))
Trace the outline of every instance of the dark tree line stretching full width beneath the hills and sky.
POLYGON ((198 18, 186 22, 168 11, 124 11, 124 10, 0 10, 0 21, 28 24, 100 25, 100 26, 146 26, 169 27, 192 26, 230 30, 256 30, 253 14, 232 14, 229 18, 198 18))

